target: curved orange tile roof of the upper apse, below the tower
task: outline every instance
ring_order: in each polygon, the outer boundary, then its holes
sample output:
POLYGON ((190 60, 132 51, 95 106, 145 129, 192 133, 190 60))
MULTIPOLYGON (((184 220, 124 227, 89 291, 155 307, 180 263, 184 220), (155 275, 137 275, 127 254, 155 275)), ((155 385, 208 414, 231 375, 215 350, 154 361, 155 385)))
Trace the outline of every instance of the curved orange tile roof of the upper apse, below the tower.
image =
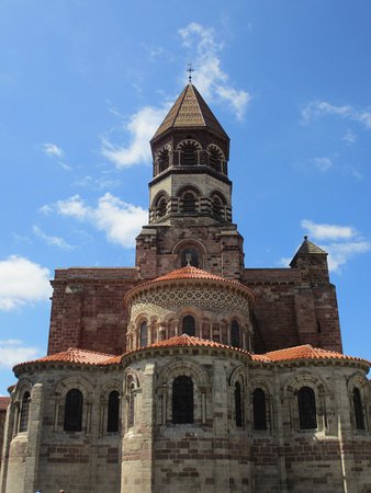
POLYGON ((139 293, 143 288, 157 287, 159 285, 167 285, 169 283, 172 284, 173 282, 182 282, 182 280, 189 283, 205 280, 223 285, 224 287, 226 285, 229 285, 245 293, 249 297, 250 301, 254 302, 256 299, 254 291, 249 287, 239 283, 238 280, 226 279, 225 277, 203 271, 202 268, 193 267, 192 265, 187 265, 186 267, 171 271, 168 274, 165 274, 164 276, 156 277, 156 279, 148 280, 146 283, 134 286, 125 294, 125 301, 126 302, 130 301, 132 297, 135 296, 137 293, 139 293))

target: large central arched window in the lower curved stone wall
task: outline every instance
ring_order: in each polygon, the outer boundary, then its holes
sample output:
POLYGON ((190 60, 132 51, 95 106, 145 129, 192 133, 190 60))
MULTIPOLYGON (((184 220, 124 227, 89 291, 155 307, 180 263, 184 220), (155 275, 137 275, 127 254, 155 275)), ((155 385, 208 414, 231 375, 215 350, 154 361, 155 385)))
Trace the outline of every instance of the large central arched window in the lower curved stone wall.
POLYGON ((193 381, 184 375, 172 382, 172 423, 193 423, 193 381))

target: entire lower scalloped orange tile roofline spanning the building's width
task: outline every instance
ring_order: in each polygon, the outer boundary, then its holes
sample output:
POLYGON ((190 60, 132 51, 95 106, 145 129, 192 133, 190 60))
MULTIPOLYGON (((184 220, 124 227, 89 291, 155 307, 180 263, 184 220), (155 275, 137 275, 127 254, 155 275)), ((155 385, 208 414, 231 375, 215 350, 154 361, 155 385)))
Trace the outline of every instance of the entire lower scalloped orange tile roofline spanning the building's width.
POLYGON ((337 353, 335 351, 321 349, 318 347, 313 347, 310 344, 288 347, 285 349, 272 351, 265 354, 254 354, 246 349, 241 349, 239 347, 228 346, 226 344, 221 344, 215 341, 210 341, 205 339, 199 339, 195 336, 191 336, 188 334, 177 335, 175 337, 160 341, 149 346, 142 347, 139 349, 130 351, 122 355, 112 355, 104 353, 97 353, 94 351, 86 351, 79 349, 76 347, 69 347, 67 351, 61 353, 56 353, 50 356, 44 356, 38 359, 34 359, 32 362, 21 363, 14 366, 13 371, 15 375, 20 375, 22 370, 26 367, 34 366, 48 366, 55 364, 63 365, 71 365, 71 366, 93 366, 93 367, 102 367, 102 366, 115 366, 120 365, 126 356, 146 353, 151 349, 161 349, 161 348, 179 348, 179 347, 193 347, 193 348, 216 348, 216 349, 226 349, 233 353, 240 353, 247 356, 248 359, 256 363, 261 364, 290 364, 297 363, 304 364, 310 362, 317 363, 330 363, 330 362, 341 362, 356 364, 357 366, 361 366, 366 370, 370 368, 371 362, 357 358, 353 356, 346 356, 341 353, 337 353))

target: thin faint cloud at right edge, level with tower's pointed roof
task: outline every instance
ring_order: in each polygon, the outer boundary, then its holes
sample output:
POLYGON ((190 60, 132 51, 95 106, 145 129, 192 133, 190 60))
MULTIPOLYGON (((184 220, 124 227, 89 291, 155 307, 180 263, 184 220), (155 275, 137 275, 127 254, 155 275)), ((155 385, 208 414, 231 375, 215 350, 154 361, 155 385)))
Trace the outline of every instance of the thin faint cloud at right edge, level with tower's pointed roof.
POLYGON ((371 111, 357 110, 351 105, 336 106, 327 101, 312 101, 301 112, 302 123, 306 124, 313 119, 326 115, 340 116, 346 119, 360 123, 364 128, 371 129, 371 111))

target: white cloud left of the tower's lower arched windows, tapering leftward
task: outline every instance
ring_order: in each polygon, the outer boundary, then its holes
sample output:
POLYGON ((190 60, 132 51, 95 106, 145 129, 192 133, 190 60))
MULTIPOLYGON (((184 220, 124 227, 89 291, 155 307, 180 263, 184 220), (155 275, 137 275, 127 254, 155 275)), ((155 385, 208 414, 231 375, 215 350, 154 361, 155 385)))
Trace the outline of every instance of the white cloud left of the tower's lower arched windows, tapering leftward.
POLYGON ((99 231, 103 231, 110 242, 124 248, 134 246, 135 237, 148 219, 145 209, 122 202, 110 193, 99 198, 97 207, 87 205, 79 195, 74 195, 48 206, 47 210, 49 209, 61 216, 91 223, 99 231))

